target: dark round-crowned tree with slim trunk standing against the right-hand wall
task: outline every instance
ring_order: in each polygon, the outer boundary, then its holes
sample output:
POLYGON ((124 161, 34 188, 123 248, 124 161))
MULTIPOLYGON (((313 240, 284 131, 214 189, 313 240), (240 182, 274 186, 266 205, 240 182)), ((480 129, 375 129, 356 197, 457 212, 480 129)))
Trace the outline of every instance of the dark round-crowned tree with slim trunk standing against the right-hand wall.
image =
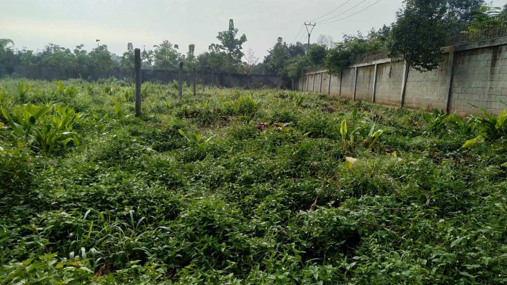
MULTIPOLYGON (((436 69, 442 59, 442 47, 448 37, 445 0, 407 0, 396 13, 388 41, 389 56, 405 60, 406 89, 410 68, 419 71, 436 69)), ((405 94, 402 94, 401 106, 405 94)))

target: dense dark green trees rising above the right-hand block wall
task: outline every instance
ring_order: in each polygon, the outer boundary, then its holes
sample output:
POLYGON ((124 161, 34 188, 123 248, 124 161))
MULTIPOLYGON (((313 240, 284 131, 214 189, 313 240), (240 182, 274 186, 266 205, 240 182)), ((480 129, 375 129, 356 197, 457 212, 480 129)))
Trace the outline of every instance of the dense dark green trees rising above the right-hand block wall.
POLYGON ((370 53, 406 60, 409 67, 421 71, 432 70, 439 66, 441 48, 452 44, 453 35, 473 39, 478 33, 484 36, 485 32, 497 31, 488 26, 505 25, 507 5, 503 9, 484 5, 483 0, 406 0, 394 23, 372 29, 366 35, 345 34, 332 48, 312 44, 308 49, 301 43, 287 44, 278 37, 263 63, 286 82, 294 82, 309 67, 323 67, 339 74, 370 53))

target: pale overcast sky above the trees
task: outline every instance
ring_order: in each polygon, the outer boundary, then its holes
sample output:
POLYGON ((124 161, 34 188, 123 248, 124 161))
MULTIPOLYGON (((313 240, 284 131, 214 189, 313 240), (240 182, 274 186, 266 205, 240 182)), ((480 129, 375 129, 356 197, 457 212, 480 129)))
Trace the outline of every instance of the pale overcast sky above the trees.
MULTIPOLYGON (((10 38, 16 48, 30 50, 42 49, 47 43, 70 49, 84 44, 90 50, 96 45, 95 39, 100 39, 101 44, 118 55, 126 50, 127 42, 151 49, 169 39, 179 45, 180 52, 195 44, 199 53, 216 43, 216 34, 226 30, 229 19, 234 19, 239 33, 248 38, 244 50, 253 49, 262 60, 278 36, 287 43, 294 42, 304 21, 327 14, 342 4, 317 22, 350 17, 317 24, 312 39, 324 34, 338 40, 343 33, 366 32, 390 24, 403 0, 380 0, 375 4, 377 1, 0 0, 0 38, 10 38), (368 8, 370 5, 373 6, 368 8), (360 12, 363 9, 366 10, 360 12), (359 13, 352 15, 356 12, 359 13)), ((502 6, 507 0, 494 2, 495 6, 502 6)), ((306 30, 301 31, 298 39, 306 43, 306 30)))

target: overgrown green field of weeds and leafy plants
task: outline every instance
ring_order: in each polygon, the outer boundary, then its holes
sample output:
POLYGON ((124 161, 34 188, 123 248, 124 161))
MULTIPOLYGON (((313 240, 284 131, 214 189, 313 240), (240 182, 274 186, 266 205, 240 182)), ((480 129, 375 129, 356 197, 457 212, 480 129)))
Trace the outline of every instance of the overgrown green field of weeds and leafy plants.
POLYGON ((132 91, 0 81, 0 283, 507 282, 505 116, 132 91))

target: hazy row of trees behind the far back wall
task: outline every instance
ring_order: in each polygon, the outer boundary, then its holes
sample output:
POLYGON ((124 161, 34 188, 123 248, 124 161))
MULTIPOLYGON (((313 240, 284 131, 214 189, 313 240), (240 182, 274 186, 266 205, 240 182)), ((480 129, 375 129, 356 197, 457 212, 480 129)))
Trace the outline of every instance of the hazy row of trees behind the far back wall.
MULTIPOLYGON (((229 28, 218 33, 218 43, 208 47, 208 51, 197 56, 194 55, 195 45, 189 45, 187 49, 180 49, 177 44, 170 40, 163 40, 152 49, 142 49, 141 59, 143 69, 177 69, 178 63, 184 62, 187 70, 214 71, 229 73, 251 74, 261 72, 258 58, 253 51, 243 53, 242 45, 246 42, 245 34, 238 35, 238 29, 234 27, 234 21, 229 20, 229 28), (243 61, 244 58, 244 61, 243 61), (257 68, 257 69, 256 69, 257 68)), ((84 45, 78 45, 74 49, 48 44, 41 51, 32 51, 25 48, 15 49, 11 39, 0 39, 0 74, 2 68, 8 73, 12 72, 16 65, 38 65, 52 68, 73 69, 133 69, 134 47, 127 44, 127 50, 122 55, 112 53, 107 45, 96 40, 97 47, 90 51, 84 49, 84 45)))

